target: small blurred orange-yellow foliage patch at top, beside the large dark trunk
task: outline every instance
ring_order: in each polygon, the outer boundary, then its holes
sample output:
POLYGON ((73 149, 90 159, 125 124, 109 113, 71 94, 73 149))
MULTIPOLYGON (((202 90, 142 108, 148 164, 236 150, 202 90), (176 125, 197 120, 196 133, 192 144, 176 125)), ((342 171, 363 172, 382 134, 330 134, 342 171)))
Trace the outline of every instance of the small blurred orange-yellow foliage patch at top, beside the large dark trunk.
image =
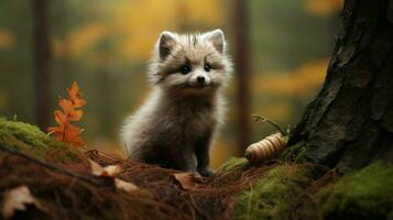
POLYGON ((343 0, 305 0, 305 9, 320 16, 335 15, 342 9, 343 0))

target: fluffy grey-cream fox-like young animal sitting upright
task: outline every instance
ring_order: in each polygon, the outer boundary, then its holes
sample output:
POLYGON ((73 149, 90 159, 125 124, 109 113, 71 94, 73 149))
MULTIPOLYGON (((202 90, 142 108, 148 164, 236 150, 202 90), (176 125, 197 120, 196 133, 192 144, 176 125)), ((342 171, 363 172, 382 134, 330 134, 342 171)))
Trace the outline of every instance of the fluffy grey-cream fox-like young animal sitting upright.
POLYGON ((122 128, 130 158, 211 175, 209 146, 223 120, 220 90, 231 73, 226 50, 221 30, 161 33, 148 73, 153 91, 122 128))

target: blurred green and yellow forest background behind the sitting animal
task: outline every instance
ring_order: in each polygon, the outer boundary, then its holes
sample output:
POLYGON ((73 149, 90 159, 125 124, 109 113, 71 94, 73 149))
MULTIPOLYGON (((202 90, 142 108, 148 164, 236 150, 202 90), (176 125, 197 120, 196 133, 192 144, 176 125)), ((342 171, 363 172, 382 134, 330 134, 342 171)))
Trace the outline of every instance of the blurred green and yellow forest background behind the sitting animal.
POLYGON ((76 80, 88 146, 123 154, 119 129, 149 94, 159 34, 220 28, 237 70, 211 150, 217 167, 274 131, 251 114, 296 124, 325 79, 341 8, 342 0, 0 0, 0 117, 53 125, 57 97, 76 80))

